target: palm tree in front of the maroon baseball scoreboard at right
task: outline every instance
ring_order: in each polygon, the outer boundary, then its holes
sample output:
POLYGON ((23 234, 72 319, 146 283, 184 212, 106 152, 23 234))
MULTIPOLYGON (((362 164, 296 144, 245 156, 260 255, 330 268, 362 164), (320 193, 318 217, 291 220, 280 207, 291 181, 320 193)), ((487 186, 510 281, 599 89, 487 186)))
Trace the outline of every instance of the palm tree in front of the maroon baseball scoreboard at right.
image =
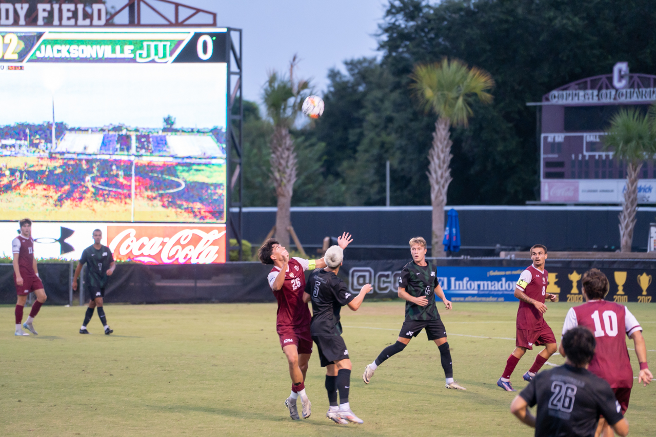
MULTIPOLYGON (((650 111, 656 113, 654 108, 650 111)), ((626 189, 619 214, 620 250, 631 252, 633 228, 638 212, 638 175, 647 157, 656 153, 654 117, 638 109, 620 109, 604 136, 605 149, 613 149, 615 160, 626 163, 626 189)))

